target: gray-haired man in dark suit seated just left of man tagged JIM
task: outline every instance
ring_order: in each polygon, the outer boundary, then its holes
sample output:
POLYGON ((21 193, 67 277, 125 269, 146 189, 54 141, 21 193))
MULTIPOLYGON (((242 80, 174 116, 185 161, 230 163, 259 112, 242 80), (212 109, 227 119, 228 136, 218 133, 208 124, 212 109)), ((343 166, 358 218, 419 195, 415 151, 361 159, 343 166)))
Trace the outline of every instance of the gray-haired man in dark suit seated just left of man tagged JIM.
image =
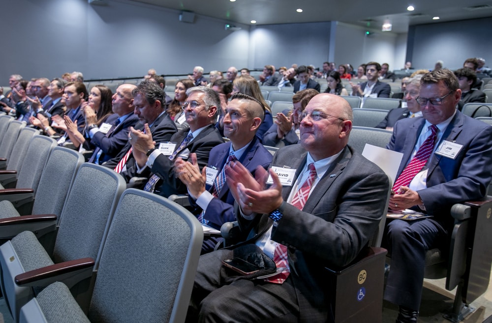
POLYGON ((379 122, 376 128, 392 130, 395 123, 404 118, 422 117, 421 106, 416 98, 420 92, 420 78, 413 78, 406 83, 404 99, 406 108, 396 108, 388 112, 386 117, 379 122))

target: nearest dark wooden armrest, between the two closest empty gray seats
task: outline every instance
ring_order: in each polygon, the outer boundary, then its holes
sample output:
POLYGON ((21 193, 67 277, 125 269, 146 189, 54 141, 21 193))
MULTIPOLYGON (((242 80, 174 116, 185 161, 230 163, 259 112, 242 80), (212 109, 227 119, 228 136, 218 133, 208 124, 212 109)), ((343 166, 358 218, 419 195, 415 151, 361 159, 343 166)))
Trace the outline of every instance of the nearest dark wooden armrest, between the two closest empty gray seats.
POLYGON ((94 264, 95 261, 92 258, 82 258, 52 264, 15 276, 15 283, 18 286, 43 287, 55 281, 61 281, 60 276, 73 276, 80 271, 87 271, 87 277, 91 277, 94 264))

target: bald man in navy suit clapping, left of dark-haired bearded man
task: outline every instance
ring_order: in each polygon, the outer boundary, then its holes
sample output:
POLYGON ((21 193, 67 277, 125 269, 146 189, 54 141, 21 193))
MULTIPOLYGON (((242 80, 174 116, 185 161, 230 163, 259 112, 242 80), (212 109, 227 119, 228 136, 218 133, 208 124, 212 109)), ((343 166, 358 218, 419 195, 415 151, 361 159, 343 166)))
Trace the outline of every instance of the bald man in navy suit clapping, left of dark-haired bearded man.
POLYGON ((86 116, 86 126, 89 129, 89 139, 96 148, 89 159, 90 163, 102 164, 116 157, 128 142, 128 131, 135 126, 138 117, 133 113, 132 90, 133 84, 122 84, 113 94, 112 108, 114 114, 109 116, 105 123, 97 126, 96 116, 86 116))

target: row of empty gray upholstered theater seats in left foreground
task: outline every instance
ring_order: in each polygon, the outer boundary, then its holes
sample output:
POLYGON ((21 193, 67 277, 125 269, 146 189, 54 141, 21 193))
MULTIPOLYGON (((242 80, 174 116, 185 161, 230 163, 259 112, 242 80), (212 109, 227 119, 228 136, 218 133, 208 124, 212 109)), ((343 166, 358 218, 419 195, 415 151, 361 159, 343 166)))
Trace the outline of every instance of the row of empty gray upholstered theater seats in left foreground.
POLYGON ((8 166, 31 136, 15 189, 0 189, 1 288, 14 321, 183 322, 203 240, 198 220, 125 190, 119 174, 33 129, 8 128, 0 147, 17 137, 10 155, 0 148, 8 166), (22 207, 19 192, 22 202, 31 194, 22 207))

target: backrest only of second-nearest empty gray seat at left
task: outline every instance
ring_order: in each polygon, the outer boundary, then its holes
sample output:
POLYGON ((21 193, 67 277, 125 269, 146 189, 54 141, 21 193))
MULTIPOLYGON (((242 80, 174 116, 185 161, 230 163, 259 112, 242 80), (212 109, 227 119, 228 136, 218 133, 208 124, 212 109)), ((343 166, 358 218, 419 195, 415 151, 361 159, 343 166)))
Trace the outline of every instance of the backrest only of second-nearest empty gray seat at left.
POLYGON ((125 188, 123 176, 109 168, 90 163, 80 166, 59 220, 55 263, 96 259, 125 188))

